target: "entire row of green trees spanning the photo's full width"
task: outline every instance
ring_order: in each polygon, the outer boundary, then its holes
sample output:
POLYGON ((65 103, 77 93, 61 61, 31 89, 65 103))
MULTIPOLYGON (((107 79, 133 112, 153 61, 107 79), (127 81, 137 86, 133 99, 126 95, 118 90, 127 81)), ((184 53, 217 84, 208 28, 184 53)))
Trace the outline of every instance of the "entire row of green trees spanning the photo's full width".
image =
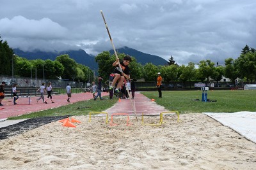
MULTIPOLYGON (((0 37, 1 38, 1 37, 0 37)), ((118 53, 120 60, 124 58, 124 53, 118 53)), ((109 79, 109 74, 113 72, 112 67, 115 61, 115 55, 109 52, 99 53, 95 61, 99 65, 99 76, 104 80, 109 79)), ((28 60, 17 55, 13 55, 13 50, 6 41, 0 40, 0 74, 12 75, 12 62, 14 66, 14 75, 20 77, 29 77, 31 74, 37 75, 37 78, 49 79, 68 79, 81 82, 92 82, 95 80, 94 73, 90 67, 78 64, 74 59, 65 55, 56 57, 55 60, 28 60)), ((256 52, 254 48, 246 45, 237 59, 225 59, 225 65, 215 65, 211 60, 200 60, 199 63, 189 62, 187 66, 175 64, 171 56, 166 66, 156 66, 147 63, 144 66, 132 57, 131 78, 144 79, 145 81, 156 81, 157 73, 161 72, 163 80, 182 81, 184 84, 190 81, 202 81, 209 83, 210 78, 214 81, 220 81, 223 76, 229 78, 235 83, 237 78, 242 81, 253 83, 256 79, 256 52), (198 68, 195 66, 198 65, 198 68)), ((190 83, 189 83, 190 85, 190 83)))

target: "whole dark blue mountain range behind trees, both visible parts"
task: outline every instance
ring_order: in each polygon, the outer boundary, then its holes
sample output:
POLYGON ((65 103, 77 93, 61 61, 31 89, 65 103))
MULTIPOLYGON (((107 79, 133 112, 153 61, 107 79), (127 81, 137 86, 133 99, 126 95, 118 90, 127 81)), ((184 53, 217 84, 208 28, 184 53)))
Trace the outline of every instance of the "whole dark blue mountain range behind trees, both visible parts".
MULTIPOLYGON (((97 71, 98 70, 98 64, 95 62, 95 56, 89 55, 84 50, 69 50, 69 51, 63 51, 63 52, 42 52, 40 50, 35 50, 33 52, 24 52, 20 50, 19 48, 13 49, 13 52, 16 55, 19 55, 19 57, 24 57, 29 60, 35 60, 35 59, 42 59, 42 60, 55 60, 57 56, 68 54, 71 59, 76 60, 79 64, 84 64, 84 66, 90 67, 90 69, 97 71)), ((114 53, 113 50, 109 50, 111 54, 114 53)), ((135 57, 137 62, 140 62, 142 65, 147 64, 148 62, 151 62, 152 64, 158 66, 158 65, 166 65, 167 61, 163 58, 157 56, 157 55, 151 55, 148 53, 143 53, 138 50, 134 50, 132 48, 129 48, 127 46, 124 46, 123 48, 116 49, 116 52, 118 53, 125 53, 127 55, 131 55, 132 57, 135 57)))

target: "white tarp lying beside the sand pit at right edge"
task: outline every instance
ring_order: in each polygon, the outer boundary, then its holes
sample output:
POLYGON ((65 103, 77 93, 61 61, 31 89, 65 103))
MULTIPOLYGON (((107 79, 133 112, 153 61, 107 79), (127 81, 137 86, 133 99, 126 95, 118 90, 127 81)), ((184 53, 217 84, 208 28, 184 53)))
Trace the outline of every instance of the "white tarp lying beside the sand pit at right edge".
POLYGON ((256 112, 204 113, 256 143, 256 112))

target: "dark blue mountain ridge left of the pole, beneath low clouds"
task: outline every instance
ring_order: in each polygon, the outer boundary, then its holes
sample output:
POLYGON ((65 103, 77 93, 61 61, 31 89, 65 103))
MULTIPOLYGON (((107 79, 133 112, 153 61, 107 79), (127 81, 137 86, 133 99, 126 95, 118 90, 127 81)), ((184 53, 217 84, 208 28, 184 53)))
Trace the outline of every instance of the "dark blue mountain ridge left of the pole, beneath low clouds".
POLYGON ((57 56, 68 54, 71 59, 76 60, 79 64, 84 64, 84 66, 90 67, 92 70, 98 69, 98 64, 95 62, 95 56, 89 55, 84 50, 69 50, 63 52, 42 52, 40 50, 35 50, 33 52, 23 52, 19 48, 13 49, 13 52, 19 57, 24 57, 29 60, 42 59, 42 60, 55 60, 57 56))

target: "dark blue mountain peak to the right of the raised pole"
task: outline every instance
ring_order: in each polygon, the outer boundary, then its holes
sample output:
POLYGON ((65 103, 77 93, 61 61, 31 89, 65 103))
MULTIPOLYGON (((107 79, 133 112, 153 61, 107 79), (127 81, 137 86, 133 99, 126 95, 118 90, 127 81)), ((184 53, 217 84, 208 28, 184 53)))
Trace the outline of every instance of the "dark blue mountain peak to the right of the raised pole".
MULTIPOLYGON (((114 50, 109 50, 111 54, 114 54, 114 50)), ((123 48, 116 49, 117 53, 125 53, 127 55, 131 55, 132 57, 135 57, 137 62, 140 62, 142 65, 147 64, 148 62, 151 62, 152 64, 156 66, 164 66, 167 64, 167 61, 163 58, 157 56, 157 55, 151 55, 148 53, 143 53, 138 50, 134 50, 132 48, 129 48, 127 46, 124 46, 123 48)))

